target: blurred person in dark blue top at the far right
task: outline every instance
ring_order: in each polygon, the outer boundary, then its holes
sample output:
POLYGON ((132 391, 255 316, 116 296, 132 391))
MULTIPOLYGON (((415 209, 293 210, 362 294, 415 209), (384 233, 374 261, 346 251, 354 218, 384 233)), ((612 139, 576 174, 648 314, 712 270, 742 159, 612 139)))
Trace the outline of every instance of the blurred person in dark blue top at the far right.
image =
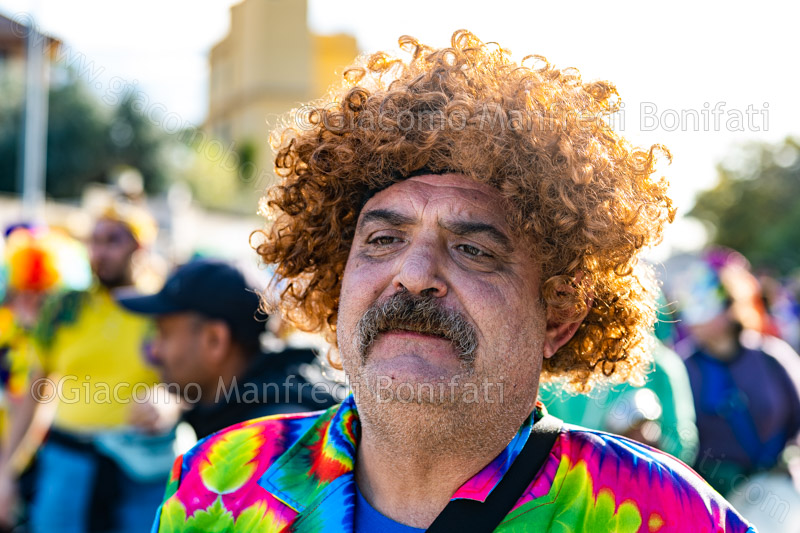
POLYGON ((723 494, 778 467, 800 432, 800 358, 765 333, 768 317, 746 259, 715 249, 680 282, 681 321, 700 448, 695 467, 723 494))

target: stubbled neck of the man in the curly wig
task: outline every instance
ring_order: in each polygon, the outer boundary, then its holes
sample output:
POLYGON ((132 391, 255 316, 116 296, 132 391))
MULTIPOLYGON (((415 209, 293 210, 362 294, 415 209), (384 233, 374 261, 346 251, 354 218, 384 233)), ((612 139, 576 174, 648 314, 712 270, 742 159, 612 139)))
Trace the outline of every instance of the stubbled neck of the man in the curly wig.
POLYGON ((433 417, 409 417, 421 422, 417 429, 428 424, 434 428, 426 436, 399 425, 387 431, 387 425, 373 426, 369 416, 365 420, 359 414, 362 434, 355 475, 362 494, 385 516, 419 528, 429 527, 459 487, 497 457, 519 429, 511 423, 477 431, 475 425, 458 436, 443 432, 433 417))

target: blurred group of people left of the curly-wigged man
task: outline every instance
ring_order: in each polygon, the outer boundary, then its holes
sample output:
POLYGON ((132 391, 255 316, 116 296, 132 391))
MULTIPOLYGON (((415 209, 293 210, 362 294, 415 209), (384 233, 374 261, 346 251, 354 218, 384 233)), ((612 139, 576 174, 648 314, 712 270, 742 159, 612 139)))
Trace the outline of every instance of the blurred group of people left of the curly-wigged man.
POLYGON ((317 352, 292 346, 232 264, 197 258, 143 294, 156 231, 125 198, 84 242, 5 231, 0 531, 147 531, 198 439, 335 403, 317 352))

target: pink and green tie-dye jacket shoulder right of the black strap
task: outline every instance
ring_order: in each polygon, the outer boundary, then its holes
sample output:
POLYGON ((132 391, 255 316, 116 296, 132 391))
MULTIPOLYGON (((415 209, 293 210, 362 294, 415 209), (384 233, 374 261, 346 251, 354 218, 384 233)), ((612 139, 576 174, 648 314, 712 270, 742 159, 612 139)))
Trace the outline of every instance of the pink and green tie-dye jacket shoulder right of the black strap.
POLYGON ((754 531, 680 460, 625 437, 570 424, 496 531, 533 524, 618 533, 754 531))

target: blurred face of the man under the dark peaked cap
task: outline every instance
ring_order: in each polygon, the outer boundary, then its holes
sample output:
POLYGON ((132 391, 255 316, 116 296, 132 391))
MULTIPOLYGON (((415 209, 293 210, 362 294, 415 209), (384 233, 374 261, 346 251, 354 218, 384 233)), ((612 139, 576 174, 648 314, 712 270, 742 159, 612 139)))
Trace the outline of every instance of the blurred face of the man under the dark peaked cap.
POLYGON ((205 385, 203 318, 194 313, 161 315, 156 318, 156 328, 153 357, 161 379, 178 384, 181 390, 190 383, 205 385))

